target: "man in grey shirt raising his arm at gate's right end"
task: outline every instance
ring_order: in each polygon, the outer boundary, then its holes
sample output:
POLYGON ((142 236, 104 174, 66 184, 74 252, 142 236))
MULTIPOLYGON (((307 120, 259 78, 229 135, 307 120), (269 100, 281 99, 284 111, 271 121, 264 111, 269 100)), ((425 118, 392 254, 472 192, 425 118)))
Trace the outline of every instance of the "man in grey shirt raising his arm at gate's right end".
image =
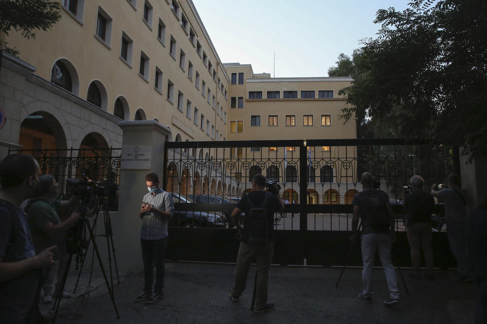
POLYGON ((469 194, 460 188, 460 177, 455 173, 448 176, 448 188, 436 191, 437 185, 431 186, 431 194, 445 203, 446 234, 450 242, 451 252, 457 259, 458 271, 456 281, 471 282, 473 279, 468 271, 467 250, 465 247, 465 225, 469 194))

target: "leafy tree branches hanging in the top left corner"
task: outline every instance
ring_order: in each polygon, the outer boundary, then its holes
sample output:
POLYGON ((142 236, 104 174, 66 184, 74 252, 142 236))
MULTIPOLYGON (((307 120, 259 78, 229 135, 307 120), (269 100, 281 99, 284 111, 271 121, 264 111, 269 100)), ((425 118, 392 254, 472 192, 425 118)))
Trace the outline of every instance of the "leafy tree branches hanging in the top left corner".
MULTIPOLYGON (((34 29, 47 30, 61 19, 59 2, 49 0, 0 0, 0 32, 14 29, 25 38, 36 38, 34 29)), ((19 51, 0 42, 0 51, 18 55, 19 51)))

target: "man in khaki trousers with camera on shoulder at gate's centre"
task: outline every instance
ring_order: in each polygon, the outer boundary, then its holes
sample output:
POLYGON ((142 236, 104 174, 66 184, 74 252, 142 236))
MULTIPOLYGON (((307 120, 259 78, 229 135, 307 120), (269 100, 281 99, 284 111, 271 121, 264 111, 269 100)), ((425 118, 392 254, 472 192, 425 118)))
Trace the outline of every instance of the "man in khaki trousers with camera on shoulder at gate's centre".
POLYGON ((252 178, 252 192, 242 195, 237 206, 232 212, 232 219, 237 226, 239 236, 241 237, 240 248, 236 260, 235 275, 233 279, 233 290, 230 293, 230 299, 238 302, 240 296, 245 290, 247 274, 250 265, 257 258, 257 286, 254 312, 263 313, 274 309, 274 304, 267 303, 267 288, 269 284, 269 270, 272 255, 274 253, 274 213, 284 209, 284 203, 281 196, 264 191, 266 179, 263 175, 258 174, 252 178), (265 202, 267 203, 265 204, 265 202), (251 236, 250 223, 252 205, 260 207, 267 211, 266 227, 261 228, 267 233, 267 241, 249 242, 251 236), (265 205, 265 206, 263 206, 265 205), (243 228, 239 222, 239 216, 245 212, 246 222, 243 228), (249 224, 249 225, 248 225, 249 224))

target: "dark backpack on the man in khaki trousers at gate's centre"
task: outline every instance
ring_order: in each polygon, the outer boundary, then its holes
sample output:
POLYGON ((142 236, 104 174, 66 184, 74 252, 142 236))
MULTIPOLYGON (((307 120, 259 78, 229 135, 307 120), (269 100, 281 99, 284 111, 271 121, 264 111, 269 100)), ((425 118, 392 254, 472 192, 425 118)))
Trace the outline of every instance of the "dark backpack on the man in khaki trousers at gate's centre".
POLYGON ((267 203, 270 199, 270 193, 266 192, 264 201, 261 207, 256 207, 247 194, 250 210, 246 215, 245 225, 248 226, 249 243, 266 243, 268 238, 268 219, 267 219, 267 203))

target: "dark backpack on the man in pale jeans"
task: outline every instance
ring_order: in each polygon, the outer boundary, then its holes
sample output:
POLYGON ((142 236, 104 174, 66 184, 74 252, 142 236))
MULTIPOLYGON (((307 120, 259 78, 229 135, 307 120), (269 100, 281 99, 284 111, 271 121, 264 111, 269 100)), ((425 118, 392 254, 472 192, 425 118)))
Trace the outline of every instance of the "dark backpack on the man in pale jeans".
POLYGON ((359 194, 365 197, 365 216, 367 222, 376 231, 389 230, 389 215, 386 204, 380 199, 380 190, 362 191, 359 194))

